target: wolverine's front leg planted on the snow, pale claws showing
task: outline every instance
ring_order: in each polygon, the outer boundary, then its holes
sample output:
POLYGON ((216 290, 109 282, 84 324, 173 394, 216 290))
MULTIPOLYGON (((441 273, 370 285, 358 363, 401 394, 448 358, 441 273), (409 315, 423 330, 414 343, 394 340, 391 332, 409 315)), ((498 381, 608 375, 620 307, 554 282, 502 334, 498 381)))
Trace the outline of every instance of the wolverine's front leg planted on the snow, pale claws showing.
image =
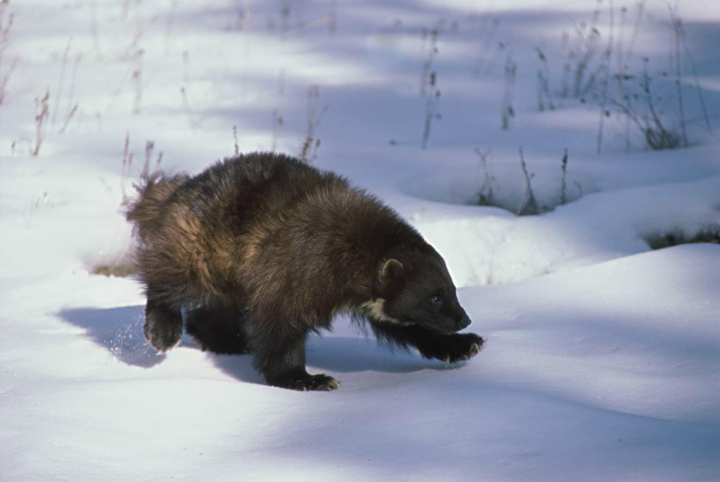
MULTIPOLYGON (((259 324, 259 323, 258 323, 259 324)), ((328 375, 310 375, 305 370, 307 330, 266 329, 253 326, 250 349, 255 366, 268 385, 292 390, 334 390, 338 382, 328 375)))

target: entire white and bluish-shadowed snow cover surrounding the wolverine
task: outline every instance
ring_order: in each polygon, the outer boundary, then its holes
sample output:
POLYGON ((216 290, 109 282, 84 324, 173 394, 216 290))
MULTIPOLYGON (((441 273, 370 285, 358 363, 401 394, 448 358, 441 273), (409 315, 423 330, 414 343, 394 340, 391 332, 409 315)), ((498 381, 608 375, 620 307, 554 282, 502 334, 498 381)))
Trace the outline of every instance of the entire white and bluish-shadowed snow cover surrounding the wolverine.
MULTIPOLYGON (((7 8, 0 79, 17 64, 0 104, 1 481, 720 479, 720 246, 650 251, 646 241, 720 226, 716 8, 684 0, 679 10, 712 132, 685 71, 690 147, 644 150, 610 117, 599 155, 597 107, 556 96, 557 110, 537 112, 535 98, 534 46, 557 90, 560 35, 595 2, 7 8), (441 119, 421 150, 421 31, 440 19, 441 119), (485 47, 493 19, 490 44, 503 42, 518 64, 509 130, 508 50, 485 47), (189 336, 155 354, 140 287, 90 274, 132 246, 120 202, 147 140, 150 164, 162 151, 168 171, 233 153, 233 125, 240 150, 297 154, 315 84, 313 164, 377 194, 444 255, 469 330, 487 336, 469 362, 390 352, 341 317, 307 344, 308 371, 337 378, 339 390, 272 388, 248 356, 201 352, 189 336), (35 157, 34 99, 45 92, 35 157), (123 177, 126 135, 134 160, 123 177), (541 215, 513 214, 525 195, 520 146, 541 215), (471 205, 485 179, 475 148, 490 151, 507 209, 471 205), (572 202, 559 205, 565 148, 572 202)), ((648 1, 635 63, 667 65, 667 24, 667 6, 648 1)), ((668 96, 673 81, 657 88, 668 96)))

